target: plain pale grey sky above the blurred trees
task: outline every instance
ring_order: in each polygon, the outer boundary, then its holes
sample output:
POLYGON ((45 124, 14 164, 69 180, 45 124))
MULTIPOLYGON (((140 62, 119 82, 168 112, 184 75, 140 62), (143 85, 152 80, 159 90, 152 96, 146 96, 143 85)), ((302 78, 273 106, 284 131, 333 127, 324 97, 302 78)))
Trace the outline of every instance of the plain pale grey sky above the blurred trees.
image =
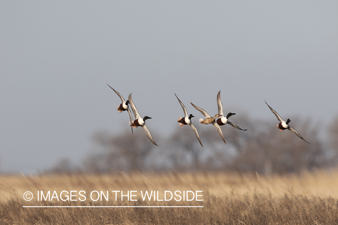
POLYGON ((106 82, 133 93, 155 141, 184 115, 174 92, 196 121, 190 102, 214 114, 222 90, 225 111, 257 122, 277 122, 265 99, 328 125, 337 12, 337 1, 1 1, 0 171, 80 163, 94 131, 129 129, 106 82))

